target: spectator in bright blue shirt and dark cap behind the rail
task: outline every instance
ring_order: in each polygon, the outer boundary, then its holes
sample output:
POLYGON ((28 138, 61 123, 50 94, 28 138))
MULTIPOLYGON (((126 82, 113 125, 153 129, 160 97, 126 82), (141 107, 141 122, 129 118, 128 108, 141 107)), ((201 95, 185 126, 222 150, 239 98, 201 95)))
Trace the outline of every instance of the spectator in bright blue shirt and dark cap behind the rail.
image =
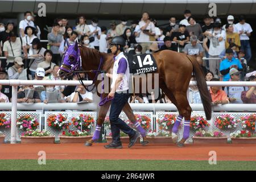
POLYGON ((238 71, 242 71, 242 64, 238 59, 233 57, 234 53, 231 48, 226 49, 226 59, 221 61, 220 72, 223 75, 223 81, 228 81, 230 79, 229 71, 231 68, 236 68, 238 71))

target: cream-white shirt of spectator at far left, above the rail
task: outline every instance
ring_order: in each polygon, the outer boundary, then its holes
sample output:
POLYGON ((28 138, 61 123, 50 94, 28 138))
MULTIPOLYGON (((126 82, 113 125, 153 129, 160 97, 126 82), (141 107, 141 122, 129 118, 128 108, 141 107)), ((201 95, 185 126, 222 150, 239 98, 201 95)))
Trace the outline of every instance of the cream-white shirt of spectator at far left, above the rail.
POLYGON ((7 40, 5 43, 3 43, 3 51, 7 51, 8 55, 10 56, 7 58, 7 64, 13 63, 14 57, 22 55, 22 42, 20 41, 20 38, 16 38, 15 42, 9 42, 9 40, 7 40), (13 51, 11 51, 11 48, 13 48, 13 51))

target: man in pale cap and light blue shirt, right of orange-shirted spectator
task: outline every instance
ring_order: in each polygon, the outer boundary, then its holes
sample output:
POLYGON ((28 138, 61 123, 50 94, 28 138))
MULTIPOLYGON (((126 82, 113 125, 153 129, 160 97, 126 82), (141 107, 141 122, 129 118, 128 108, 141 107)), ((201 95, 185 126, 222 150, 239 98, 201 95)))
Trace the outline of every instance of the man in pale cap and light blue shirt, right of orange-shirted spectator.
MULTIPOLYGON (((240 81, 240 71, 236 68, 231 68, 229 71, 229 81, 240 81)), ((232 104, 242 104, 241 93, 245 91, 245 86, 225 86, 224 91, 229 97, 229 101, 232 104)))

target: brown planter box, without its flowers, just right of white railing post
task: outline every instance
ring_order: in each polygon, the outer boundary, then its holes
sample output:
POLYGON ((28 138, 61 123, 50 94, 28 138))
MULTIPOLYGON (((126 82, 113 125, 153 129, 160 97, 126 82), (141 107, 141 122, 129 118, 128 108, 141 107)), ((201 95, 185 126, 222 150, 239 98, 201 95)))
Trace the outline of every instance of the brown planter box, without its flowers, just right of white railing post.
POLYGON ((47 137, 20 137, 21 143, 54 143, 55 137, 54 136, 47 136, 47 137))

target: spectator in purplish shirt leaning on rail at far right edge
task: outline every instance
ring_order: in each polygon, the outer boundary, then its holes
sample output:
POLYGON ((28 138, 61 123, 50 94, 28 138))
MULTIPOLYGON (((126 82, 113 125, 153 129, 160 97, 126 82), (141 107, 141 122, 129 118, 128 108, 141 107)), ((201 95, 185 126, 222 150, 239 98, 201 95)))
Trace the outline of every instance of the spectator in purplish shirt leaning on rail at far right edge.
MULTIPOLYGON (((249 81, 256 81, 255 76, 250 76, 249 81)), ((256 86, 249 86, 249 90, 243 91, 241 99, 244 104, 256 104, 256 86)))

